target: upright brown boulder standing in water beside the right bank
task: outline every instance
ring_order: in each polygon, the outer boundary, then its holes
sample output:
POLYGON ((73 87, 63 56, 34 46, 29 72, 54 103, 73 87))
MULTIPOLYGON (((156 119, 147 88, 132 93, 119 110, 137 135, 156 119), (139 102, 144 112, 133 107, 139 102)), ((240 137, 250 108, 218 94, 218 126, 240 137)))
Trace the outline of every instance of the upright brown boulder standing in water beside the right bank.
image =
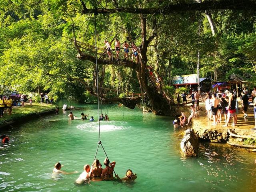
POLYGON ((187 129, 184 133, 184 137, 180 142, 180 148, 182 153, 186 157, 194 157, 198 154, 198 136, 193 129, 187 129))

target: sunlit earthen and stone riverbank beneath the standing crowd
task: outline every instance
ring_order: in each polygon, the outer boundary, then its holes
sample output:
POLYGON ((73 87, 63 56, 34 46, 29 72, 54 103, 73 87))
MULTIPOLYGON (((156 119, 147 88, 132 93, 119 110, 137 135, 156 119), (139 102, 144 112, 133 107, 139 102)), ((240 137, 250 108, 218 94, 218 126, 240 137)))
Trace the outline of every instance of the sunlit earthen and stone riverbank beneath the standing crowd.
MULTIPOLYGON (((232 126, 233 120, 230 120, 229 126, 223 127, 225 125, 224 116, 222 116, 222 122, 212 125, 213 121, 208 120, 207 114, 205 114, 204 103, 200 103, 199 116, 192 119, 192 128, 202 141, 227 142, 234 146, 254 148, 254 145, 256 146, 256 130, 252 130, 254 128, 253 107, 248 108, 248 117, 244 118, 240 106, 239 104, 236 126, 232 126)), ((187 116, 188 108, 184 107, 187 116)))

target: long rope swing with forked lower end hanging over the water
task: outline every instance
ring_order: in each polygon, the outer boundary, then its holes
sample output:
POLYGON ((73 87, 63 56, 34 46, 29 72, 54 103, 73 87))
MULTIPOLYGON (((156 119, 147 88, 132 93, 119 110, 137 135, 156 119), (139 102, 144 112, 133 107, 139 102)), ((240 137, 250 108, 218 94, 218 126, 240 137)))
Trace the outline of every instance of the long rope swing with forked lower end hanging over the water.
MULTIPOLYGON (((94 30, 94 38, 95 38, 96 85, 97 85, 98 118, 99 118, 99 116, 100 116, 100 102, 99 102, 98 62, 97 62, 96 14, 97 14, 97 13, 94 13, 94 28, 95 28, 95 30, 94 30)), ((103 149, 103 151, 104 151, 104 153, 105 153, 105 155, 106 155, 106 158, 108 158, 108 155, 107 155, 107 153, 106 153, 104 147, 102 146, 102 142, 101 142, 101 140, 100 140, 100 120, 99 120, 98 122, 99 122, 99 124, 98 124, 98 126, 99 126, 99 141, 98 141, 98 147, 97 147, 97 150, 96 150, 96 153, 95 153, 95 156, 94 156, 94 160, 96 159, 99 146, 102 147, 102 149, 103 149)), ((110 163, 109 158, 108 158, 108 162, 110 163)), ((113 172, 114 172, 114 174, 116 174, 116 172, 114 171, 114 169, 113 169, 113 172)))

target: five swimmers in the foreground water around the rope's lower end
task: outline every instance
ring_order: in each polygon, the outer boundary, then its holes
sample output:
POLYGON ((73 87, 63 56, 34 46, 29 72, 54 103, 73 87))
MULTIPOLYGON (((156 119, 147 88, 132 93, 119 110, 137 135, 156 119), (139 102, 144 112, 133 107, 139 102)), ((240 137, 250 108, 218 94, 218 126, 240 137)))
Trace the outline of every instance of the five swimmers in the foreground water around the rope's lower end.
MULTIPOLYGON (((105 168, 102 168, 102 164, 98 159, 94 160, 92 166, 89 164, 84 165, 84 171, 80 174, 80 176, 76 179, 77 184, 88 183, 90 180, 92 181, 110 181, 110 180, 118 180, 120 182, 132 182, 137 178, 137 175, 132 172, 132 170, 128 169, 126 171, 126 176, 124 178, 120 178, 117 174, 115 174, 116 178, 113 176, 114 167, 116 162, 113 161, 110 163, 108 158, 104 160, 105 168)), ((54 165, 53 173, 54 174, 72 174, 75 172, 64 172, 60 169, 62 168, 60 162, 54 165)))

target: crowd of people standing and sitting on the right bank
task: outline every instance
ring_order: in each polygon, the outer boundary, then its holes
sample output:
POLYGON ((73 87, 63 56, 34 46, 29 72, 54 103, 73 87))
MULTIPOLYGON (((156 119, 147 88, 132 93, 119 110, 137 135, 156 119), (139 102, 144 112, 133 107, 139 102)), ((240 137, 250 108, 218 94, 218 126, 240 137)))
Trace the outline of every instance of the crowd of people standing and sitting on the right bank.
MULTIPOLYGON (((254 90, 252 91, 252 106, 254 106, 254 119, 255 119, 255 127, 256 129, 256 87, 254 87, 254 90)), ((188 94, 185 92, 181 95, 184 105, 187 104, 187 97, 188 94)), ((199 115, 199 98, 200 94, 198 94, 198 91, 192 90, 192 94, 189 98, 192 98, 192 105, 190 106, 191 114, 188 118, 186 118, 185 112, 182 112, 180 116, 176 116, 176 119, 173 121, 174 127, 178 126, 185 126, 190 124, 192 118, 194 116, 199 115), (188 122, 186 123, 186 120, 188 122)), ((202 98, 202 97, 201 97, 202 98)), ((237 92, 234 91, 222 91, 218 90, 217 93, 215 92, 208 92, 205 96, 205 98, 202 98, 202 100, 205 102, 205 109, 207 114, 207 119, 209 121, 213 120, 212 125, 217 125, 221 123, 222 121, 225 122, 223 125, 224 127, 229 126, 230 120, 233 120, 232 126, 235 126, 237 124, 237 114, 238 114, 238 100, 237 100, 237 92)), ((241 100, 241 108, 243 113, 243 118, 247 118, 247 110, 249 106, 249 96, 248 96, 248 90, 246 88, 243 89, 243 91, 240 94, 240 100, 241 100)), ((177 97, 177 101, 180 100, 177 97)))

